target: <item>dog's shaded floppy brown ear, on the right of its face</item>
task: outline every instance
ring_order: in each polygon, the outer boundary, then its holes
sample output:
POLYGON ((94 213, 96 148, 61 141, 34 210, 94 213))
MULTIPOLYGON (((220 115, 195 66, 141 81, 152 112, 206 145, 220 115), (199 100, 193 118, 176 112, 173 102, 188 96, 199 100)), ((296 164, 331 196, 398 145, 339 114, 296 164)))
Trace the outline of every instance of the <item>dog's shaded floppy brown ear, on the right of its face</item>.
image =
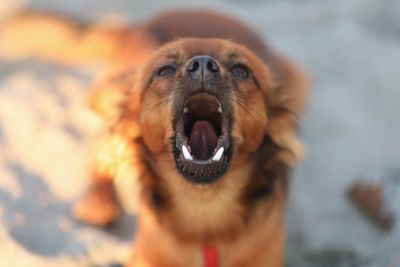
POLYGON ((276 56, 272 63, 272 82, 266 100, 266 134, 282 148, 279 155, 282 160, 292 165, 304 154, 298 139, 298 121, 307 103, 309 80, 305 73, 283 57, 276 56))

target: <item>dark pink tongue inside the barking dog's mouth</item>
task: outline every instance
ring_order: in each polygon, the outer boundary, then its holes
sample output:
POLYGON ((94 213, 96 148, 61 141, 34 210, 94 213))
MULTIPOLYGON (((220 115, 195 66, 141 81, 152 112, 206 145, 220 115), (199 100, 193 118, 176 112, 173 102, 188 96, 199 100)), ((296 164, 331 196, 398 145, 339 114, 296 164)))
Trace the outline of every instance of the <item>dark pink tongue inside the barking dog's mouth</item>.
POLYGON ((196 159, 206 160, 211 158, 217 147, 217 140, 214 126, 209 121, 198 120, 193 125, 188 144, 196 159))

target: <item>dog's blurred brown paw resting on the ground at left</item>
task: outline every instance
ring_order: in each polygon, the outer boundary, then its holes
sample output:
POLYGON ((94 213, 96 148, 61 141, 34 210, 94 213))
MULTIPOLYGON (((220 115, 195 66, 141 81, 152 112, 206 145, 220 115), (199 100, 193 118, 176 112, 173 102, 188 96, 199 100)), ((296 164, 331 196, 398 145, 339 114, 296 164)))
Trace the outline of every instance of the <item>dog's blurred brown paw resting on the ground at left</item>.
POLYGON ((112 181, 96 181, 73 207, 76 219, 96 226, 109 226, 120 213, 112 181))

